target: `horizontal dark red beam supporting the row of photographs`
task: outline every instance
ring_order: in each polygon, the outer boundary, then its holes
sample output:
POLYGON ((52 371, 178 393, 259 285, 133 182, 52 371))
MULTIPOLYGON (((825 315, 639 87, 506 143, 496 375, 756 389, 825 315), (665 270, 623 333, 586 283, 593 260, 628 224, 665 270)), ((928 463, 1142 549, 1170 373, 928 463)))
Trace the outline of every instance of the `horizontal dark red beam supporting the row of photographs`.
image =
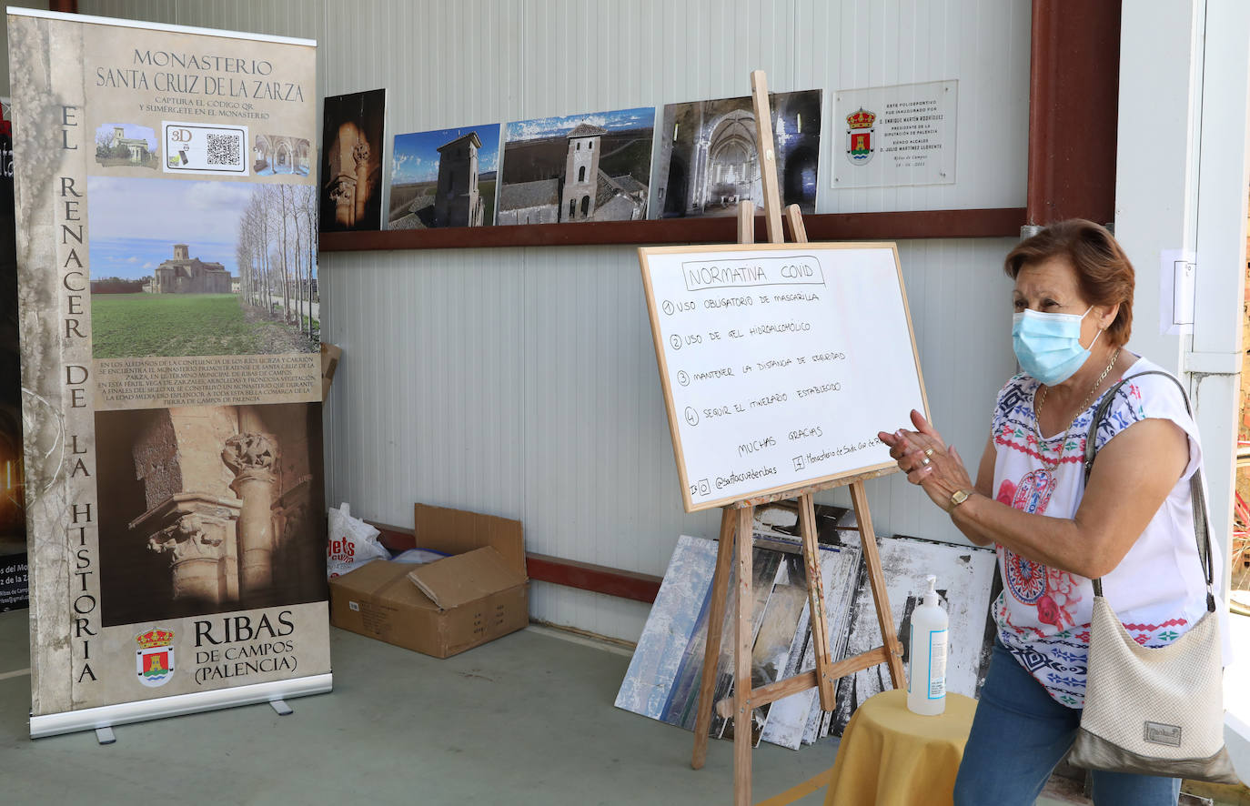
MULTIPOLYGON (((904 240, 914 237, 1016 237, 1025 222, 1022 207, 991 210, 922 210, 912 212, 835 212, 802 219, 808 237, 832 240, 904 240)), ((766 241, 764 216, 756 216, 756 240, 766 241)), ((399 249, 480 249, 486 246, 586 246, 602 244, 734 244, 738 220, 729 217, 656 221, 586 221, 521 226, 448 227, 321 232, 324 252, 399 249)))

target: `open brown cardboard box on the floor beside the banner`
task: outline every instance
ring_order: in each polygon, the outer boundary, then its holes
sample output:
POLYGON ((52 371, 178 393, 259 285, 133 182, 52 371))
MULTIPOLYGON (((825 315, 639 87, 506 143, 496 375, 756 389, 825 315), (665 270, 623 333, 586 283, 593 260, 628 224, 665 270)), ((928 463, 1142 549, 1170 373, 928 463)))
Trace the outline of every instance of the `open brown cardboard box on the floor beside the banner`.
POLYGON ((416 545, 451 556, 374 560, 330 580, 330 622, 450 657, 525 627, 529 577, 520 521, 416 505, 416 545))

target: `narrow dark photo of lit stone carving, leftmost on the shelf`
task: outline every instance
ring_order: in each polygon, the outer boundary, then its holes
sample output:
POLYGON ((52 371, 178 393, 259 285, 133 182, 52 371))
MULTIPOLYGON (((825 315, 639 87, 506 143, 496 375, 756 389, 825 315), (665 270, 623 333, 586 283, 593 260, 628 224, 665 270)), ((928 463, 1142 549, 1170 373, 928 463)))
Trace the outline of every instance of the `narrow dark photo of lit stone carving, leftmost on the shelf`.
POLYGON ((380 230, 386 90, 325 99, 321 231, 380 230))

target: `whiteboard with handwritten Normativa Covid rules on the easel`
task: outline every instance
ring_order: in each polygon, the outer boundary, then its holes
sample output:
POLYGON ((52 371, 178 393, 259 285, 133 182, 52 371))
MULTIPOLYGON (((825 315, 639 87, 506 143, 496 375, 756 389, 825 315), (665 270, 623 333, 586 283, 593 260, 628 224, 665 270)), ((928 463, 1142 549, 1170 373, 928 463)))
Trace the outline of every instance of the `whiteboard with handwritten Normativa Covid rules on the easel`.
POLYGON ((894 244, 638 251, 688 512, 894 467, 929 416, 894 244))

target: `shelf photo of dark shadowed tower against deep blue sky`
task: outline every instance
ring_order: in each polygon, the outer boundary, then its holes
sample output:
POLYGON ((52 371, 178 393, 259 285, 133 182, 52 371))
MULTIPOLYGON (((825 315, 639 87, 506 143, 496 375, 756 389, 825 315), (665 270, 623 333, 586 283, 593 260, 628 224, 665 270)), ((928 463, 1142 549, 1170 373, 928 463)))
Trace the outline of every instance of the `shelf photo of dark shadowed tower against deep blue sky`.
POLYGON ((495 222, 499 124, 395 135, 389 230, 495 222))

